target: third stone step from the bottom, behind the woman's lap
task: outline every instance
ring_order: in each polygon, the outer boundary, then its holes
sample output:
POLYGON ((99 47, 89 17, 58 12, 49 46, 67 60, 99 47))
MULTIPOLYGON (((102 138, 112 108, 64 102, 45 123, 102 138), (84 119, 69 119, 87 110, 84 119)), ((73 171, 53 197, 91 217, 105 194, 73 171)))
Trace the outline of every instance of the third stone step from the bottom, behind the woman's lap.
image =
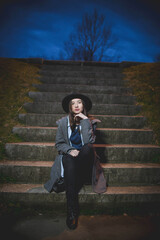
MULTIPOLYGON (((103 163, 160 162, 160 147, 153 144, 94 144, 103 163)), ((55 143, 7 143, 6 155, 13 160, 54 161, 55 143)))

